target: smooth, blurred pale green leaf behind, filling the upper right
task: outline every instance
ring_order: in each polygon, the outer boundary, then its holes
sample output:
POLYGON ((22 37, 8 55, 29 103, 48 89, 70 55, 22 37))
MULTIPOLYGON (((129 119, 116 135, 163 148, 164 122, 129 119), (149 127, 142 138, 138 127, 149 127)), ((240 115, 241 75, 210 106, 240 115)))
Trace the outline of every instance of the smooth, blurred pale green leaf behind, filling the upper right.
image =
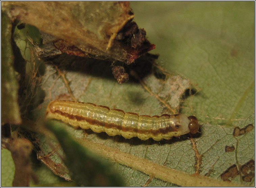
POLYGON ((184 113, 193 108, 203 123, 231 127, 254 114, 254 2, 140 2, 131 7, 156 44, 152 53, 160 54, 161 64, 197 86, 184 113))

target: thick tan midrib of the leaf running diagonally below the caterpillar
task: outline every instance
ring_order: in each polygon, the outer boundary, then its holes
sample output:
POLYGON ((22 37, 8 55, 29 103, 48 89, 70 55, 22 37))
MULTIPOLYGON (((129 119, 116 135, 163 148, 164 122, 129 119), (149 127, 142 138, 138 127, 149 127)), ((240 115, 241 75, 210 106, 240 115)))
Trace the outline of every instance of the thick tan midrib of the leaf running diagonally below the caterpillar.
POLYGON ((101 144, 93 143, 83 139, 76 139, 78 143, 89 150, 101 155, 104 158, 110 159, 113 162, 118 162, 133 169, 142 171, 152 178, 174 183, 180 186, 188 187, 234 187, 244 186, 241 184, 234 184, 228 181, 212 179, 203 175, 187 174, 179 170, 175 170, 152 161, 130 155, 118 149, 106 147, 101 144))

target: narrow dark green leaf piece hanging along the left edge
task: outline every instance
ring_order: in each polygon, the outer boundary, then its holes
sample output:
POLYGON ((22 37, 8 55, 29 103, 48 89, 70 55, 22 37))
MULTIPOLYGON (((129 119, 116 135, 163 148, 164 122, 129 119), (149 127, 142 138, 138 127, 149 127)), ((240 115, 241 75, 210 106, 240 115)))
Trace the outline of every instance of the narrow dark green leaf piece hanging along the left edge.
POLYGON ((1 12, 1 124, 20 124, 17 74, 11 45, 12 24, 5 12, 1 12))

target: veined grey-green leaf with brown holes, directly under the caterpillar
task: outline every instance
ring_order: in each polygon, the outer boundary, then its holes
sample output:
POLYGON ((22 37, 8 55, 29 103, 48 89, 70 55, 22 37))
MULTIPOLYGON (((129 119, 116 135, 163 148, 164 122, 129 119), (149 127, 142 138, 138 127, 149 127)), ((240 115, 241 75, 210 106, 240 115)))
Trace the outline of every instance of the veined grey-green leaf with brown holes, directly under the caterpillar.
MULTIPOLYGON (((62 71, 47 65, 46 67, 46 76, 44 77, 44 88, 46 89, 46 96, 53 98, 63 97, 61 94, 66 94, 64 97, 71 98, 73 95, 74 98, 83 102, 92 102, 98 105, 106 105, 110 108, 120 108, 125 112, 135 112, 140 115, 161 115, 162 113, 168 112, 172 113, 167 106, 172 106, 174 109, 177 108, 177 104, 173 101, 179 99, 179 95, 183 94, 186 88, 189 88, 189 83, 182 79, 181 76, 168 75, 166 74, 166 79, 159 80, 156 79, 154 74, 149 74, 144 77, 143 85, 142 83, 138 84, 136 82, 129 82, 126 84, 119 85, 117 82, 111 79, 111 69, 106 65, 105 62, 95 61, 90 59, 83 59, 78 57, 69 57, 69 56, 59 56, 53 60, 56 64, 62 63, 62 69, 65 67, 67 71, 63 74, 62 71), (75 67, 72 67, 73 71, 70 71, 69 66, 65 66, 67 62, 73 62, 75 67), (82 70, 84 69, 84 71, 82 70), (83 72, 78 72, 83 71, 83 72), (65 76, 62 76, 65 75, 65 76), (101 76, 98 76, 101 75, 101 76), (69 83, 67 85, 67 83, 69 83), (146 89, 147 88, 147 89, 146 89), (71 91, 71 93, 70 93, 71 91), (176 92, 175 92, 176 91, 176 92), (178 96, 175 96, 174 94, 178 96), (169 97, 173 95, 173 97, 169 97), (165 101, 162 103, 162 101, 165 101), (175 99, 175 100, 172 100, 175 99), (175 106, 176 105, 176 106, 175 106)), ((194 96, 196 97, 196 96, 194 96)), ((48 104, 49 99, 47 99, 43 106, 45 109, 48 104)), ((41 111, 42 116, 45 114, 45 111, 41 111)), ((192 113, 188 115, 193 115, 192 113)), ((254 123, 252 118, 249 118, 248 121, 241 122, 239 125, 241 128, 249 123, 254 123)), ((202 175, 208 175, 211 177, 213 184, 217 185, 216 178, 221 179, 221 174, 224 173, 231 165, 237 164, 243 165, 248 162, 247 158, 242 158, 242 160, 236 160, 236 156, 243 155, 244 153, 238 150, 238 148, 233 151, 233 155, 225 152, 226 146, 236 146, 236 138, 232 142, 227 142, 227 140, 232 140, 233 138, 233 127, 223 128, 221 126, 211 125, 211 124, 202 124, 201 134, 196 135, 196 139, 189 140, 187 136, 182 136, 181 138, 173 138, 171 140, 163 140, 161 142, 156 142, 153 140, 142 141, 138 138, 125 139, 121 136, 111 137, 106 135, 106 133, 94 133, 91 130, 83 131, 81 129, 75 130, 73 127, 62 124, 62 126, 68 129, 68 132, 77 138, 84 138, 91 141, 92 143, 97 143, 108 148, 118 149, 119 152, 112 151, 117 156, 121 156, 121 152, 126 153, 126 157, 123 159, 111 159, 113 161, 119 161, 118 163, 124 164, 117 165, 117 168, 122 172, 123 178, 126 181, 128 186, 141 186, 146 184, 149 181, 150 185, 171 185, 167 182, 172 182, 177 185, 189 186, 189 185, 199 185, 195 184, 197 182, 197 176, 190 175, 189 178, 185 178, 187 174, 194 174, 197 170, 199 173, 202 171, 202 175), (214 133, 211 130, 215 130, 214 133), (216 136, 217 134, 217 136, 216 136), (208 136, 213 136, 208 140, 208 136), (203 142, 201 142, 203 140, 203 142), (195 146, 191 145, 195 144, 195 146), (199 144, 200 143, 200 144, 199 144), (205 143, 209 143, 206 145, 205 143), (216 143, 221 143, 217 148, 215 147, 216 143), (206 151, 205 151, 206 150, 206 151), (210 152, 216 153, 217 156, 212 155, 210 152), (197 153, 198 152, 198 153, 197 153), (235 153, 236 152, 236 153, 235 153), (136 159, 132 159, 129 156, 136 156, 136 159), (220 156, 219 156, 220 155, 220 156), (214 158, 212 158, 214 156, 214 158), (226 157, 225 157, 226 156, 226 157), (225 165, 222 165, 222 168, 219 168, 219 162, 223 162, 222 158, 225 158, 225 165), (141 159, 148 160, 145 163, 144 168, 140 165, 131 165, 135 164, 131 161, 139 161, 141 159), (125 163, 129 162, 130 163, 125 163), (168 167, 168 170, 165 171, 165 175, 155 174, 152 164, 149 161, 153 161, 155 165, 160 165, 162 167, 168 167), (205 165, 211 162, 211 166, 205 165), (198 167, 195 167, 195 164, 198 167), (132 167, 128 168, 128 167, 132 167), (151 167, 151 168, 150 168, 151 167), (183 172, 182 181, 176 181, 168 179, 166 177, 170 169, 176 169, 179 172, 183 172), (142 172, 141 172, 142 171, 142 172), (217 174, 213 172, 217 171, 217 174), (148 176, 153 178, 158 178, 157 180, 151 180, 148 176), (216 177, 217 175, 217 177, 216 177), (131 181, 133 178, 134 181, 131 181), (184 181, 183 179, 189 179, 184 181), (163 181, 164 180, 164 181, 163 181), (154 182, 154 183, 153 183, 154 182)), ((253 131, 244 134, 244 137, 250 139, 253 131)), ((238 140, 236 143, 239 143, 238 140)), ((42 144, 45 145, 45 142, 42 140, 42 144)), ((252 146, 254 142, 251 142, 252 146)), ((92 144, 93 145, 93 144, 92 144)), ((239 145, 238 145, 239 146, 239 145)), ((250 148, 251 148, 250 146, 250 148)), ((90 146, 89 146, 90 147, 90 146)), ((93 147, 93 146, 91 146, 93 147)), ((43 148, 43 155, 46 156, 51 150, 50 148, 43 148)), ((100 149, 99 149, 100 150, 100 149)), ((104 150, 104 149, 102 149, 104 150)), ((111 150, 110 150, 111 151, 111 150)), ((253 150, 248 150, 250 157, 253 156, 253 150)), ((59 163, 58 156, 52 154, 52 159, 56 163, 59 163)), ((155 169, 159 169, 155 167, 155 169)), ((171 170, 170 170, 171 171, 171 170)), ((177 173, 176 173, 177 174, 177 173)), ((243 176, 242 174, 240 175, 243 176)), ((232 185, 241 185, 245 182, 240 182, 238 179, 239 176, 236 176, 236 179, 231 179, 236 184, 232 185)), ((203 178, 200 176, 200 180, 203 178)), ((219 181, 219 186, 226 185, 226 182, 222 180, 219 181)), ((200 182, 202 183, 202 182, 200 182)), ((209 179, 205 177, 204 185, 209 185, 209 179)), ((229 184, 231 186, 231 184, 229 184)))

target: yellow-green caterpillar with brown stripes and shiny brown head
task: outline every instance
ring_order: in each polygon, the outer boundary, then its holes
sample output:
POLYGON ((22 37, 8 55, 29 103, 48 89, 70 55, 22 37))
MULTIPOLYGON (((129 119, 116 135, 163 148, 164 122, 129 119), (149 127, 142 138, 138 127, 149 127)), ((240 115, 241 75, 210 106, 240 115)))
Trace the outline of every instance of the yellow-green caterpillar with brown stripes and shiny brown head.
POLYGON ((110 136, 138 137, 142 140, 171 139, 173 136, 178 137, 189 132, 195 134, 199 130, 198 120, 194 116, 138 116, 120 109, 109 109, 107 106, 62 100, 48 104, 46 118, 61 120, 75 128, 106 132, 110 136))

